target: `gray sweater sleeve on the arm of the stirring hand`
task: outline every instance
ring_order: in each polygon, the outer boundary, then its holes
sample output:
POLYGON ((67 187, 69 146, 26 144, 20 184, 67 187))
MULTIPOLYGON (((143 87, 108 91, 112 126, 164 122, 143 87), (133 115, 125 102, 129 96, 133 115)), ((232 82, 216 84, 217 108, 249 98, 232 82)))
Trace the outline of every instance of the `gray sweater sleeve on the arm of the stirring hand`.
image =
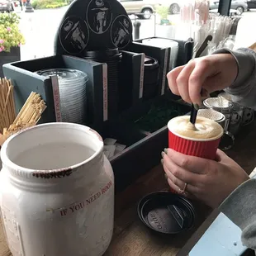
POLYGON ((235 51, 220 49, 214 54, 231 54, 238 64, 238 75, 235 82, 225 89, 230 93, 232 100, 244 107, 256 110, 256 53, 248 48, 235 51))

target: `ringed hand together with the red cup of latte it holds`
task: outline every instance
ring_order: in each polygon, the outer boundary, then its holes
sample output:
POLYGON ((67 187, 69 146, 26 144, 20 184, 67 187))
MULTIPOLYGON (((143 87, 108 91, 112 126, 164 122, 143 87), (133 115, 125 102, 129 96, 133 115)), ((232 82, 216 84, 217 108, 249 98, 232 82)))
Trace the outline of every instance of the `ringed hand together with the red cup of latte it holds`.
POLYGON ((168 122, 164 172, 171 192, 217 207, 249 177, 218 149, 223 128, 216 121, 197 116, 193 127, 189 118, 178 116, 168 122))

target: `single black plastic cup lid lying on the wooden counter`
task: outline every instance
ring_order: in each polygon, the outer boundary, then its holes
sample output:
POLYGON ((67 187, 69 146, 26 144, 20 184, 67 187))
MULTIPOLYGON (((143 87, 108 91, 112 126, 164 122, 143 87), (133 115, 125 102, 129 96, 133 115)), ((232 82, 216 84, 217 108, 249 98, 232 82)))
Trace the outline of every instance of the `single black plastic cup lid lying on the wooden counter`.
POLYGON ((185 197, 171 192, 154 192, 138 204, 140 220, 149 229, 163 234, 178 234, 192 228, 196 213, 185 197))

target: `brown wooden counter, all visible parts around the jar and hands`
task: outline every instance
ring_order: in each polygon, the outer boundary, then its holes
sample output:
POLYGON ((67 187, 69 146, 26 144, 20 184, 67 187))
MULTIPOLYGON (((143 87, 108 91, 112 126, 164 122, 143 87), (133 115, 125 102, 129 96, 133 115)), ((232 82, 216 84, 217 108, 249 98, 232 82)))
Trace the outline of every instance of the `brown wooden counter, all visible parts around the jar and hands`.
MULTIPOLYGON (((227 151, 235 161, 250 173, 256 166, 256 121, 250 126, 244 127, 235 140, 235 146, 227 151)), ((182 256, 192 248, 193 244, 206 230, 207 225, 214 220, 206 217, 210 215, 211 209, 201 203, 194 201, 197 211, 197 221, 192 230, 181 235, 159 235, 149 230, 140 222, 137 216, 137 202, 141 197, 167 189, 168 185, 164 178, 162 166, 149 171, 145 176, 138 179, 126 188, 124 192, 116 195, 115 228, 111 245, 104 256, 174 256, 183 248, 182 256), (201 223, 204 228, 197 230, 201 223), (196 237, 193 235, 196 232, 196 237), (187 243, 188 241, 188 243, 187 243), (185 246, 184 246, 185 245, 185 246), (184 251, 186 248, 186 252, 184 251)), ((216 212, 213 213, 213 216, 216 212)), ((0 228, 0 256, 12 255, 7 248, 2 227, 0 228)), ((37 255, 35 255, 37 256, 37 255)), ((56 255, 57 256, 57 255, 56 255)), ((58 255, 59 256, 59 255, 58 255)), ((75 255, 73 255, 75 256, 75 255)))

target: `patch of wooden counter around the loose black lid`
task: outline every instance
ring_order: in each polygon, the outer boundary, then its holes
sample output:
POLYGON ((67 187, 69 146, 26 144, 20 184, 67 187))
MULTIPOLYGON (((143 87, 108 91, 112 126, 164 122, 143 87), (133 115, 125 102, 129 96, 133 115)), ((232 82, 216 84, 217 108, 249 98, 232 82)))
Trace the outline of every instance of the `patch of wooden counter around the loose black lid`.
POLYGON ((116 196, 114 235, 104 256, 174 256, 210 214, 211 209, 193 202, 197 221, 192 230, 181 235, 159 235, 143 225, 137 216, 137 202, 141 197, 168 187, 162 166, 152 169, 136 183, 116 196))

